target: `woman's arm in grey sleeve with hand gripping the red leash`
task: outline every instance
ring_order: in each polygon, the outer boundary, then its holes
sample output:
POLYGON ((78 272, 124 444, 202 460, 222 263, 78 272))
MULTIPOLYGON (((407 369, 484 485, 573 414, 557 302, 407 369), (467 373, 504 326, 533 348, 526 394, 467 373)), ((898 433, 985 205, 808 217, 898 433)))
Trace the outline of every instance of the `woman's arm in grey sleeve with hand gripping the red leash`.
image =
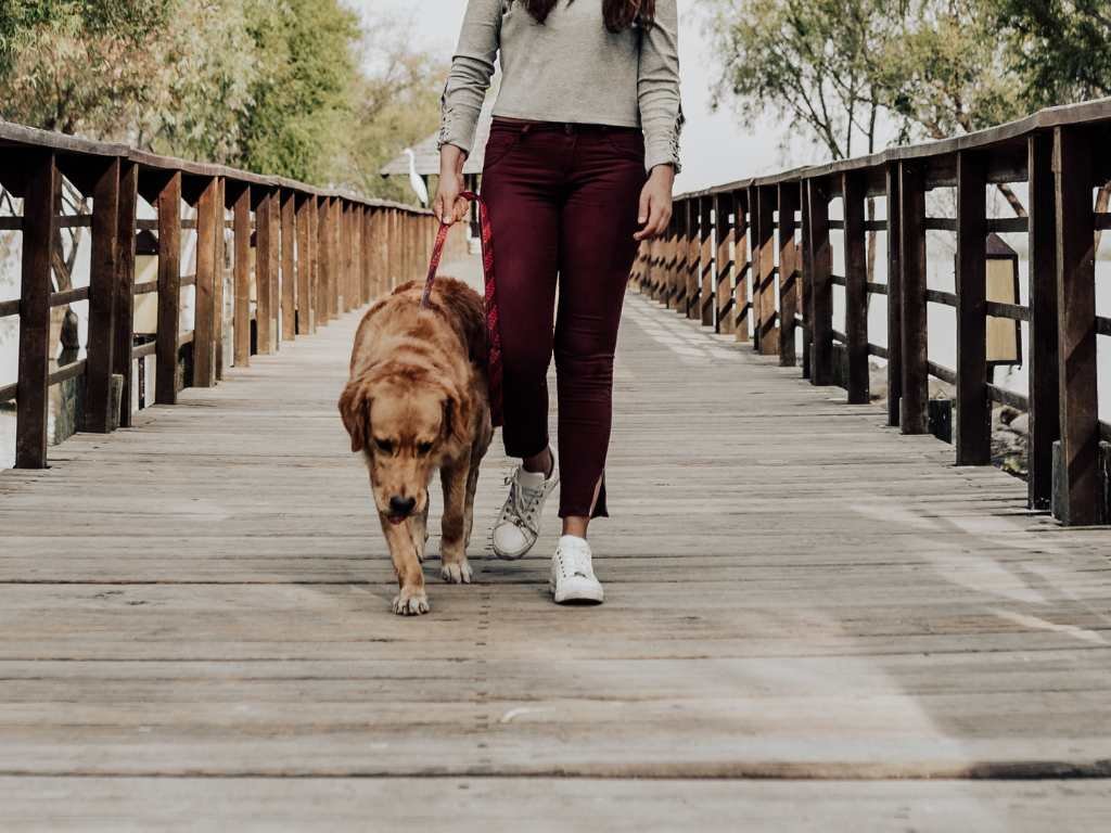
POLYGON ((502 0, 469 0, 459 48, 440 101, 440 185, 432 210, 441 222, 454 222, 467 215, 467 203, 459 199, 463 190, 463 161, 474 143, 474 131, 501 34, 502 0))

